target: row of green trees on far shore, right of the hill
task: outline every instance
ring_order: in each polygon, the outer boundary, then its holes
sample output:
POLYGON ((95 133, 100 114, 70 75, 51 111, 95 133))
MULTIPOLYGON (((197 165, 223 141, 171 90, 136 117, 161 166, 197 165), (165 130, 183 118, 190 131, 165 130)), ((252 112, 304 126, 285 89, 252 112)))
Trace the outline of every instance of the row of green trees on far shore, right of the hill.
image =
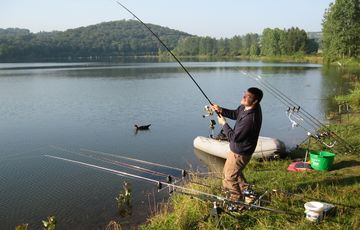
POLYGON ((279 56, 315 54, 319 44, 299 28, 264 29, 261 35, 248 33, 230 39, 186 37, 179 41, 175 52, 179 55, 216 56, 279 56))

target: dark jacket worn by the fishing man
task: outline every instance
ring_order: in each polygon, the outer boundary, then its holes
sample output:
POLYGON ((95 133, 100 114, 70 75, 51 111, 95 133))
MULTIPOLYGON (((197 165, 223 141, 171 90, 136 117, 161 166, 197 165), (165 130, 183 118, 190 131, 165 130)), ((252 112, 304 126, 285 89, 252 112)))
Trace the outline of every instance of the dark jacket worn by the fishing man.
POLYGON ((232 129, 227 123, 223 130, 230 141, 230 150, 240 155, 252 155, 255 151, 262 123, 261 106, 244 111, 240 105, 236 110, 222 108, 221 115, 236 120, 232 129))

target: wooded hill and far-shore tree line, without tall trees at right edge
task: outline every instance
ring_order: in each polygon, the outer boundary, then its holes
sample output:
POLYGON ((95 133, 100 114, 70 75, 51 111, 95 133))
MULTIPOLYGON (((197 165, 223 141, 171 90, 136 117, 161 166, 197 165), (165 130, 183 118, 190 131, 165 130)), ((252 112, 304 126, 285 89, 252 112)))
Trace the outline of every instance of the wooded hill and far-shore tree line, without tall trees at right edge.
MULTIPOLYGON (((251 56, 311 54, 315 39, 304 30, 266 29, 263 35, 246 34, 229 39, 199 37, 148 24, 180 56, 251 56), (274 41, 274 36, 280 40, 274 41)), ((0 29, 0 61, 74 59, 89 57, 157 56, 165 49, 135 20, 104 22, 64 32, 31 33, 27 29, 0 29)))

